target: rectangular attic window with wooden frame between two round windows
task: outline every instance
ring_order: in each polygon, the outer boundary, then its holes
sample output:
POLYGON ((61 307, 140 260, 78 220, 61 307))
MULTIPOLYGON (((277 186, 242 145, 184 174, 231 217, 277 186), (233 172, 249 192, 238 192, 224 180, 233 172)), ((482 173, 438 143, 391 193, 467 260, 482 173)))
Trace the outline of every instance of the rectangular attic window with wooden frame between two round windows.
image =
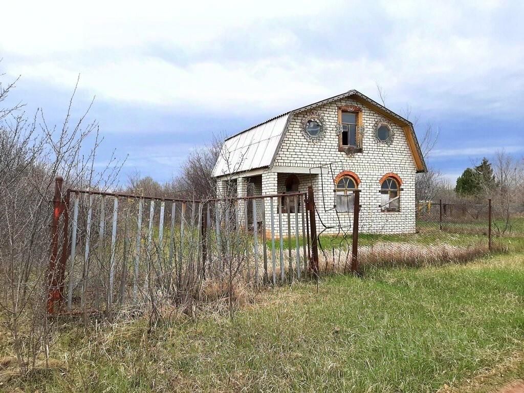
POLYGON ((339 151, 362 152, 362 108, 356 105, 339 106, 339 151))

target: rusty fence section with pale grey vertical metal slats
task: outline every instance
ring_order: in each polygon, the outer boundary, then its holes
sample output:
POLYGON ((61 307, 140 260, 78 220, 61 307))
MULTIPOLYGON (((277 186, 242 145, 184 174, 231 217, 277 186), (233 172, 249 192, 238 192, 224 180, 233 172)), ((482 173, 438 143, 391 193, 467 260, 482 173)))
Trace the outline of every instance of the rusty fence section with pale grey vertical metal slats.
POLYGON ((49 313, 177 302, 212 281, 279 285, 318 271, 307 193, 202 201, 61 187, 57 179, 49 313))

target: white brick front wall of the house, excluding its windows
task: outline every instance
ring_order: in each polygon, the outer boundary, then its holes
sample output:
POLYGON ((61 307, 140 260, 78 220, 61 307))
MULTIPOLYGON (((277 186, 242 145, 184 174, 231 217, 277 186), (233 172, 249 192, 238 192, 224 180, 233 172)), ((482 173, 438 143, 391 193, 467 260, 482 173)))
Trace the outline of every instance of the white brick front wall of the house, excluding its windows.
MULTIPOLYGON (((333 226, 326 232, 337 232, 342 225, 349 229, 353 222, 353 213, 336 213, 333 179, 343 170, 355 172, 361 179, 361 231, 369 233, 406 233, 415 231, 415 173, 416 166, 401 127, 393 124, 394 139, 390 145, 379 143, 375 137, 375 124, 386 118, 353 101, 340 100, 325 104, 315 110, 293 116, 289 123, 281 148, 274 165, 287 167, 315 167, 328 163, 322 168, 322 174, 312 179, 315 201, 320 211, 317 223, 319 232, 324 226, 333 226), (356 105, 363 108, 363 152, 347 155, 339 151, 339 137, 335 133, 338 123, 338 107, 356 105), (309 140, 302 133, 302 121, 310 115, 320 114, 324 119, 325 135, 321 140, 309 140), (402 179, 400 191, 400 211, 381 212, 380 179, 384 174, 394 172, 402 179)), ((284 191, 285 177, 279 175, 278 191, 284 191), (282 179, 282 180, 281 180, 282 179)), ((300 175, 298 175, 300 177, 300 175)), ((306 175, 309 176, 309 175, 306 175)), ((301 181, 301 189, 302 191, 301 181)), ((307 184, 304 184, 307 188, 307 184)), ((305 191, 305 190, 304 190, 305 191)))

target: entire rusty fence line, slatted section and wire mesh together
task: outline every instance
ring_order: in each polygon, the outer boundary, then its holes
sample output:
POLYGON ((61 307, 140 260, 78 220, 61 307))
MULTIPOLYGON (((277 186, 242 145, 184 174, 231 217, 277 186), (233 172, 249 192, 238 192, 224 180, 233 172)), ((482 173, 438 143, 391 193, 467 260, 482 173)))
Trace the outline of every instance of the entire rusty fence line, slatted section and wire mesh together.
POLYGON ((352 225, 333 235, 324 234, 312 187, 203 201, 62 191, 57 179, 48 311, 184 302, 210 283, 275 286, 324 272, 360 274, 368 266, 468 260, 524 243, 524 214, 492 200, 418 203, 414 231, 397 233, 392 221, 377 233, 361 217, 359 194, 352 225))

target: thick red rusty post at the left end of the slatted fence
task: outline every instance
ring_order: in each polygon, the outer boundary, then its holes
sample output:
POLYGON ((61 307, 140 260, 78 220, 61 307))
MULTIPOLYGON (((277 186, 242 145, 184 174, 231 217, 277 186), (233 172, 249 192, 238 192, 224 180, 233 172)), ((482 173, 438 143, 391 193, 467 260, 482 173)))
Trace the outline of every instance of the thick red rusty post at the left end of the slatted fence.
POLYGON ((60 299, 60 288, 58 285, 58 273, 56 271, 58 257, 58 221, 62 214, 62 182, 63 179, 57 176, 54 179, 54 198, 53 198, 53 219, 51 223, 51 256, 49 258, 48 271, 48 297, 47 312, 54 312, 54 302, 60 299))

